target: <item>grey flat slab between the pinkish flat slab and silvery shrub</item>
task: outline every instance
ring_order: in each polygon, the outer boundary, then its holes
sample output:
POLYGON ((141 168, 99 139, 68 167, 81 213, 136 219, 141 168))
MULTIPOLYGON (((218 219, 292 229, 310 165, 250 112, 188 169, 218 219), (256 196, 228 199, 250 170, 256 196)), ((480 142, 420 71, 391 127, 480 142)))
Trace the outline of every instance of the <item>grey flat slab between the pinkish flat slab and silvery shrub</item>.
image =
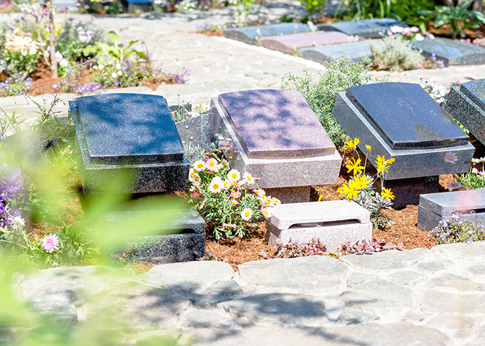
POLYGON ((359 41, 346 44, 332 44, 329 46, 319 46, 311 48, 301 48, 300 57, 306 57, 316 62, 326 62, 327 60, 337 60, 342 55, 348 57, 353 62, 362 62, 362 58, 373 58, 371 52, 371 41, 359 41))

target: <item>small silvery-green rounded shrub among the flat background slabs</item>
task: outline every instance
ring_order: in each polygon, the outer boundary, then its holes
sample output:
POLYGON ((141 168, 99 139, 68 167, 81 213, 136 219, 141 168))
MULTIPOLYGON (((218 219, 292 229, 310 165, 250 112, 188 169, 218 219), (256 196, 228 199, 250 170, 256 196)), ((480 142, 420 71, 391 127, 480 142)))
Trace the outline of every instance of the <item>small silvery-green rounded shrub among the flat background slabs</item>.
POLYGON ((400 36, 384 37, 381 42, 371 44, 371 51, 374 64, 380 70, 412 70, 424 60, 421 52, 413 49, 411 43, 400 36))

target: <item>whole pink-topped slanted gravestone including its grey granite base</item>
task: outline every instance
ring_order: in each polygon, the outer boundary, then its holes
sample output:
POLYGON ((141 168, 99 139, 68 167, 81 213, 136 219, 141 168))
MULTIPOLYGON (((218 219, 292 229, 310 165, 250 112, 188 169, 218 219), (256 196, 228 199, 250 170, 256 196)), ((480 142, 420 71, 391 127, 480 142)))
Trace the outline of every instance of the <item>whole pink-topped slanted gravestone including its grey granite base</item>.
POLYGON ((298 91, 224 93, 212 98, 211 113, 231 167, 260 177, 267 194, 310 201, 310 185, 337 181, 342 158, 298 91))

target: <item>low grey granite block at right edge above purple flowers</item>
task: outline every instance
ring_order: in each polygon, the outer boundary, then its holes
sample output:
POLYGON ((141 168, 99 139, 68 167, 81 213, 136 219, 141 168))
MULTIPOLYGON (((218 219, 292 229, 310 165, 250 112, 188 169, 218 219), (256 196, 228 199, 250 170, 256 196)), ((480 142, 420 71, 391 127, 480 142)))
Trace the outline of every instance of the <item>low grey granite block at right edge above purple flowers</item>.
POLYGON ((464 190, 421 194, 418 208, 418 228, 428 232, 439 225, 439 221, 452 215, 464 214, 462 218, 485 221, 485 190, 464 190), (474 210, 473 214, 466 214, 474 210))

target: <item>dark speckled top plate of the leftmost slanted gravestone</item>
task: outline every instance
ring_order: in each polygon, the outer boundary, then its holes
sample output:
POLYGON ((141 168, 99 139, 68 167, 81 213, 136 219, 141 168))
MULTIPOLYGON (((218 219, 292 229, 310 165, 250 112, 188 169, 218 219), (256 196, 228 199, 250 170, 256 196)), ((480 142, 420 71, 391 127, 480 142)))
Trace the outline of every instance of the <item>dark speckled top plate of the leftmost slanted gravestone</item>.
POLYGON ((182 161, 184 147, 163 96, 102 94, 76 98, 91 163, 182 161))

